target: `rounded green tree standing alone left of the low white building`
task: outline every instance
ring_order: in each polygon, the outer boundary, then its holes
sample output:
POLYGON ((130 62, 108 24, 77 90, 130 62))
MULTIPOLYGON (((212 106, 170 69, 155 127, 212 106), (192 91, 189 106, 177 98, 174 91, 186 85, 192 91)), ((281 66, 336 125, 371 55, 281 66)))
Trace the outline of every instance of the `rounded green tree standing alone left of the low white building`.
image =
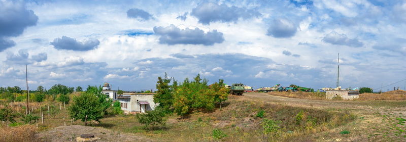
POLYGON ((85 92, 73 98, 73 103, 68 110, 71 118, 81 119, 87 125, 87 121, 98 121, 103 117, 111 104, 111 99, 101 93, 101 86, 89 85, 85 92))

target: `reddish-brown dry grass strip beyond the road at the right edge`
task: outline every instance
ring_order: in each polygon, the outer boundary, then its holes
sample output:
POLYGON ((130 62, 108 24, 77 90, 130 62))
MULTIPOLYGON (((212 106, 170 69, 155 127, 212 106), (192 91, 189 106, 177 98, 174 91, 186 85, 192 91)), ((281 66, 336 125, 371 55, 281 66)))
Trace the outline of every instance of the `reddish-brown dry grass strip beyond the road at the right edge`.
POLYGON ((359 101, 380 101, 380 100, 406 100, 405 90, 387 91, 384 93, 361 93, 359 101))

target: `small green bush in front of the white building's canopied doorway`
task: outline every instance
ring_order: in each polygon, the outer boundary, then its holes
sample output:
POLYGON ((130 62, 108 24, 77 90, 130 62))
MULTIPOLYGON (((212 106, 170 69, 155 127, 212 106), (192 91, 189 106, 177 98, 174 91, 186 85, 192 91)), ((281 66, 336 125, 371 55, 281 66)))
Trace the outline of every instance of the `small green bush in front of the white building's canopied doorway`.
POLYGON ((162 111, 161 108, 157 108, 153 111, 147 111, 146 113, 140 113, 136 115, 136 118, 139 123, 144 124, 144 128, 147 128, 149 125, 152 126, 152 130, 154 130, 154 126, 161 124, 165 125, 165 113, 162 111))

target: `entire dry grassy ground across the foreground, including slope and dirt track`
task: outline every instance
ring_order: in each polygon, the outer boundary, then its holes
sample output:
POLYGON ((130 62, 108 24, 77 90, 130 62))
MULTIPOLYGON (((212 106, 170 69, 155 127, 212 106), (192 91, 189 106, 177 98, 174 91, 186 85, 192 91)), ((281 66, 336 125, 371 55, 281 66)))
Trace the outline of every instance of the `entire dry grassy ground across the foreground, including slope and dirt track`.
MULTIPOLYGON (((11 105, 23 112, 22 108, 18 108, 22 105, 11 105)), ((59 109, 59 105, 55 106, 59 109)), ((89 131, 101 127, 109 129, 108 132, 101 129, 100 133, 96 133, 103 138, 119 134, 121 137, 133 135, 152 141, 403 141, 406 140, 405 106, 406 101, 303 100, 246 93, 244 96, 230 96, 221 110, 196 111, 184 119, 169 115, 166 125, 154 130, 144 129, 134 115, 108 115, 100 120, 100 124, 84 128, 89 128, 89 131), (264 122, 272 122, 266 123, 271 131, 268 134, 264 133, 264 122)), ((33 114, 39 116, 39 110, 34 109, 33 114)), ((72 122, 63 105, 55 116, 48 116, 46 112, 44 116, 44 124, 40 120, 38 126, 7 128, 3 123, 1 130, 27 133, 28 139, 39 132, 45 136, 39 140, 46 140, 49 139, 46 136, 52 135, 48 132, 55 131, 55 127, 84 125, 80 120, 72 122)), ((17 125, 22 123, 20 118, 16 120, 19 122, 17 125)), ((65 129, 63 133, 68 133, 69 130, 65 129)), ((73 136, 80 134, 75 130, 69 133, 73 136)), ((6 139, 5 135, 0 136, 0 141, 7 141, 2 138, 6 139)))

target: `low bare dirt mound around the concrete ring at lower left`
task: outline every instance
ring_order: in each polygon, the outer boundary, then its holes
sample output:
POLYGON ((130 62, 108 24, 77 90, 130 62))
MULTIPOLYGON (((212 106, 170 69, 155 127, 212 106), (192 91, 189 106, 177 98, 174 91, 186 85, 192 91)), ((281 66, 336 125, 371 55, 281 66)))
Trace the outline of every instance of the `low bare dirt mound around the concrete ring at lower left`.
POLYGON ((48 131, 38 133, 36 136, 43 141, 76 141, 81 134, 93 134, 100 137, 101 141, 153 141, 143 136, 129 133, 121 133, 101 127, 89 127, 81 125, 59 126, 48 131))

